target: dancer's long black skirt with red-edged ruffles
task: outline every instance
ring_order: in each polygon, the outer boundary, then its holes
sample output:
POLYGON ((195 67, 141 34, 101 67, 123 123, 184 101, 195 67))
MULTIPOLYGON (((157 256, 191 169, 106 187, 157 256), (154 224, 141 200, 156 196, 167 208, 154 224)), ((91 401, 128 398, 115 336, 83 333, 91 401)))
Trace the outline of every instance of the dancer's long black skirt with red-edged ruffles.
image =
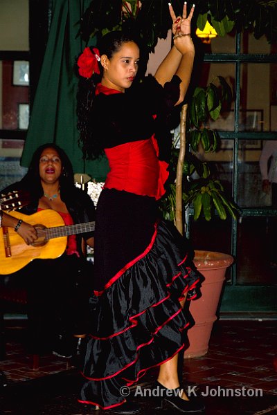
POLYGON ((121 387, 184 350, 190 316, 180 300, 197 298, 202 275, 187 239, 172 223, 157 220, 156 202, 148 196, 103 190, 95 239, 79 401, 109 409, 125 402, 121 387))

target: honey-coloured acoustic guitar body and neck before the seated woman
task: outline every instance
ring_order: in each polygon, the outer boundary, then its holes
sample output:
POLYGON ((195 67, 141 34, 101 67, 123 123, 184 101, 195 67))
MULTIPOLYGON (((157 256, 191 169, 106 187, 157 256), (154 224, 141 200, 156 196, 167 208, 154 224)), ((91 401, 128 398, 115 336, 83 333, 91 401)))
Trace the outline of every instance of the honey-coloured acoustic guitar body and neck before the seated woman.
POLYGON ((38 238, 32 245, 27 245, 12 228, 0 228, 0 275, 15 273, 33 259, 60 257, 66 249, 67 236, 91 232, 95 225, 95 222, 64 225, 62 216, 52 209, 30 215, 21 212, 9 214, 35 226, 38 238))

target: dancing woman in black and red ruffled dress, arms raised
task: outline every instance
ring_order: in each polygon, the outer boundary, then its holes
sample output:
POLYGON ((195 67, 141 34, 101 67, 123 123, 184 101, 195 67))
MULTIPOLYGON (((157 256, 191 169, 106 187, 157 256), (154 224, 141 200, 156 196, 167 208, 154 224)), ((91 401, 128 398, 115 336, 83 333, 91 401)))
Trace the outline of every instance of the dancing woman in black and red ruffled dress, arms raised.
POLYGON ((139 42, 107 33, 78 58, 78 129, 84 157, 106 154, 110 171, 96 208, 90 340, 79 402, 118 414, 139 412, 123 387, 159 367, 157 407, 202 412, 203 403, 181 389, 178 354, 184 353, 188 316, 202 276, 193 252, 171 223, 159 218, 172 146, 168 117, 184 101, 195 48, 187 17, 172 17, 170 52, 154 76, 134 82, 139 42))

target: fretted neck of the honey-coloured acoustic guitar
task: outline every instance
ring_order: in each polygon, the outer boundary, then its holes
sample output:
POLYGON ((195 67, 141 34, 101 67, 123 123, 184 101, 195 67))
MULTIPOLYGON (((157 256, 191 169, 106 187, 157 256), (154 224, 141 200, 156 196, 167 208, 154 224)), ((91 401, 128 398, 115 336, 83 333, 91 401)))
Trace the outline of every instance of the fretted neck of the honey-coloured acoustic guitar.
POLYGON ((85 232, 91 232, 95 228, 95 222, 76 223, 75 225, 55 226, 54 228, 37 229, 37 236, 45 236, 46 239, 68 237, 85 232))

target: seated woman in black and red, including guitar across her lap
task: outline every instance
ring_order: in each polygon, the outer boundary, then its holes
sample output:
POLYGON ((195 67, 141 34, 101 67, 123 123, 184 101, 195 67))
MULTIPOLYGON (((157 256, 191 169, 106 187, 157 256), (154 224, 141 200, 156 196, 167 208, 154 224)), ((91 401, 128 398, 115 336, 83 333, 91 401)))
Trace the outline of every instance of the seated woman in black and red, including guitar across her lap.
POLYGON ((30 352, 73 356, 78 365, 93 278, 85 258, 86 244, 94 241, 93 201, 75 187, 71 162, 53 143, 40 146, 26 176, 2 193, 12 190, 28 192, 30 203, 20 212, 1 212, 0 233, 8 238, 2 239, 0 274, 26 284, 30 352))

